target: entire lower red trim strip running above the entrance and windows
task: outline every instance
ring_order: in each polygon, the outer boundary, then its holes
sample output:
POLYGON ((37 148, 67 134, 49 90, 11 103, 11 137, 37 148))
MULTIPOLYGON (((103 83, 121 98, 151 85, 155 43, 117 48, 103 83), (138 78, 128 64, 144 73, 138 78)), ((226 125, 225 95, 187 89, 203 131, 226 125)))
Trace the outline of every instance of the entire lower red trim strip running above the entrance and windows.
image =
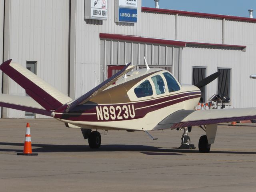
POLYGON ((237 48, 241 50, 246 48, 246 46, 241 46, 241 45, 185 42, 185 41, 165 40, 165 39, 157 39, 157 38, 120 35, 120 34, 108 34, 108 33, 100 33, 100 39, 125 40, 125 41, 131 41, 131 42, 164 44, 164 45, 173 45, 173 46, 179 46, 179 47, 186 47, 187 45, 192 45, 192 46, 215 46, 215 47, 227 47, 227 48, 230 47, 230 48, 237 48))

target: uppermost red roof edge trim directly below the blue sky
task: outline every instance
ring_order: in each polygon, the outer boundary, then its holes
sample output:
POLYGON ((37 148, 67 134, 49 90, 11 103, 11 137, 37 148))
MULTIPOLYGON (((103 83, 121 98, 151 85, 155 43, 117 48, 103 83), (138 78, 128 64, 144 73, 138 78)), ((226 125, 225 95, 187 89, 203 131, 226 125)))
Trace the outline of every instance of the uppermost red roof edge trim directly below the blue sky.
POLYGON ((229 15, 217 15, 217 14, 209 14, 209 13, 198 13, 198 12, 189 12, 189 11, 178 11, 178 10, 169 10, 169 9, 157 9, 157 8, 150 8, 150 7, 142 7, 141 11, 142 12, 180 14, 180 15, 189 15, 189 16, 200 16, 200 17, 208 17, 208 18, 256 22, 255 18, 229 16, 229 15))

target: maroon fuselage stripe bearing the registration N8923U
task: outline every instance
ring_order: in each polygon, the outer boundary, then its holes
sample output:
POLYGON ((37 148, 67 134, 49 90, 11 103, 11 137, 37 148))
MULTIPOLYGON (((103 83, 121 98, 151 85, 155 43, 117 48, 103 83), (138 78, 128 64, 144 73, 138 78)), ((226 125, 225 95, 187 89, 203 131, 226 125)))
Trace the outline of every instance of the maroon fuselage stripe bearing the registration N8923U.
MULTIPOLYGON (((184 92, 164 96, 154 100, 131 102, 126 104, 84 104, 80 108, 87 110, 72 111, 65 114, 55 114, 55 118, 73 121, 118 121, 143 118, 149 112, 171 106, 186 100, 200 98, 200 92, 184 92)), ((74 109, 75 110, 75 109, 74 109)), ((163 114, 164 115, 168 114, 163 114)))

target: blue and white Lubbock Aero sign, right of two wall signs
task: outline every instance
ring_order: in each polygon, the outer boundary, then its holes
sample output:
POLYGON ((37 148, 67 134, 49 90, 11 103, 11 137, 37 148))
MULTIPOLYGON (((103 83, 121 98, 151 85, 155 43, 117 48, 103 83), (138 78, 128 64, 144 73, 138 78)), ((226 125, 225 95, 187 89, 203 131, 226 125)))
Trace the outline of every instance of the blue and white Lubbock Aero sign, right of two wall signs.
POLYGON ((116 0, 115 11, 115 22, 137 22, 137 0, 116 0))

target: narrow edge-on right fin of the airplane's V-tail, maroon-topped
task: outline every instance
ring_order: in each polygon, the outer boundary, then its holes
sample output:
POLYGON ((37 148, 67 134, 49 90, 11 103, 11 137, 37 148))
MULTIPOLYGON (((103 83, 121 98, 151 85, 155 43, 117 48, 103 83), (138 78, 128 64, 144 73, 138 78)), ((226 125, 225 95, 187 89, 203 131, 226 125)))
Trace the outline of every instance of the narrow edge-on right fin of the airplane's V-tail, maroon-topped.
POLYGON ((114 74, 112 77, 108 78, 98 86, 96 86, 94 89, 90 90, 86 94, 80 96, 76 100, 74 100, 72 103, 68 104, 68 107, 66 108, 66 112, 69 112, 73 108, 75 108, 78 105, 82 105, 90 100, 93 96, 96 94, 102 92, 104 89, 106 89, 108 86, 112 85, 116 80, 118 80, 120 77, 124 76, 124 74, 131 71, 135 66, 130 66, 131 63, 124 66, 122 70, 114 74))

